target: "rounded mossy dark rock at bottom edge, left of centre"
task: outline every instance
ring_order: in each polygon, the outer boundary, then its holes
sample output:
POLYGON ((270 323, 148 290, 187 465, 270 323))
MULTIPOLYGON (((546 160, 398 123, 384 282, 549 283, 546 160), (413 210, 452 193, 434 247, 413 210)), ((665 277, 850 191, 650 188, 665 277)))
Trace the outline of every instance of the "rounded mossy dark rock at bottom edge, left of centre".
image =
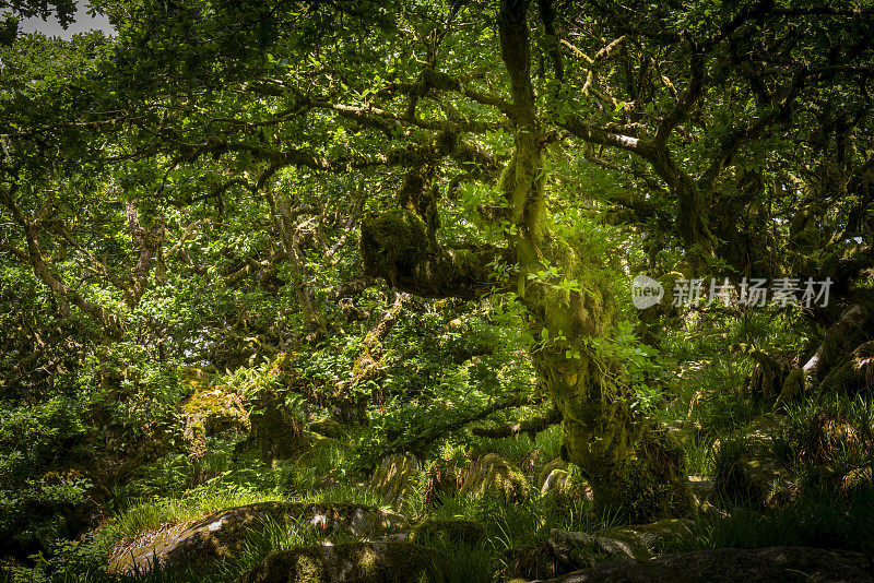
POLYGON ((408 583, 427 576, 436 552, 377 540, 271 552, 239 583, 408 583))

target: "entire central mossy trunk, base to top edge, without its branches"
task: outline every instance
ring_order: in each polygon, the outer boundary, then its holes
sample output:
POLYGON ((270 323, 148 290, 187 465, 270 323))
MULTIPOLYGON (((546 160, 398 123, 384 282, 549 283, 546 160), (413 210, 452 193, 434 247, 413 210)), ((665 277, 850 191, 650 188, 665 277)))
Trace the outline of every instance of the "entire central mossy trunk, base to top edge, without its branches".
POLYGON ((615 374, 618 362, 593 348, 611 332, 616 313, 609 282, 600 275, 602 258, 587 257, 584 241, 572 245, 550 228, 545 140, 530 78, 528 4, 501 2, 498 26, 517 128, 515 156, 501 179, 517 227, 508 243, 530 323, 546 338, 532 350, 533 362, 562 412, 568 460, 589 480, 595 504, 631 521, 676 515, 692 505, 682 450, 635 413, 630 388, 615 374), (548 265, 558 266, 576 288, 544 279, 540 274, 548 265))

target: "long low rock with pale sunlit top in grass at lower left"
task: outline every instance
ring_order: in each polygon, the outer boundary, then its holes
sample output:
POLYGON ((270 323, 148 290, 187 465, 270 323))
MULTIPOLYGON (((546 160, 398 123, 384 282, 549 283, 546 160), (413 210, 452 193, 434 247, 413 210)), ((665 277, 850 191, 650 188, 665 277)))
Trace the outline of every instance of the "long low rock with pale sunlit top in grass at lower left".
POLYGON ((309 524, 326 537, 345 531, 357 537, 382 538, 410 528, 410 522, 400 514, 359 504, 257 502, 143 533, 114 550, 109 571, 147 571, 155 563, 172 569, 232 558, 245 546, 249 531, 262 528, 270 521, 309 524))

